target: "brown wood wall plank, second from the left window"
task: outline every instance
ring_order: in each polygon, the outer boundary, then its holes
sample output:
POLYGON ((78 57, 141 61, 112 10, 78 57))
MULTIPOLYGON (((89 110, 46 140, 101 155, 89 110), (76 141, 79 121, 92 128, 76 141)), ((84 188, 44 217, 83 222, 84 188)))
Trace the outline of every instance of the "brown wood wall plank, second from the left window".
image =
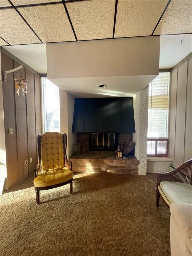
POLYGON ((35 85, 34 74, 26 69, 27 82, 27 130, 28 130, 28 156, 32 158, 32 163, 28 161, 29 175, 33 174, 33 169, 37 162, 36 148, 36 125, 35 125, 35 85))

